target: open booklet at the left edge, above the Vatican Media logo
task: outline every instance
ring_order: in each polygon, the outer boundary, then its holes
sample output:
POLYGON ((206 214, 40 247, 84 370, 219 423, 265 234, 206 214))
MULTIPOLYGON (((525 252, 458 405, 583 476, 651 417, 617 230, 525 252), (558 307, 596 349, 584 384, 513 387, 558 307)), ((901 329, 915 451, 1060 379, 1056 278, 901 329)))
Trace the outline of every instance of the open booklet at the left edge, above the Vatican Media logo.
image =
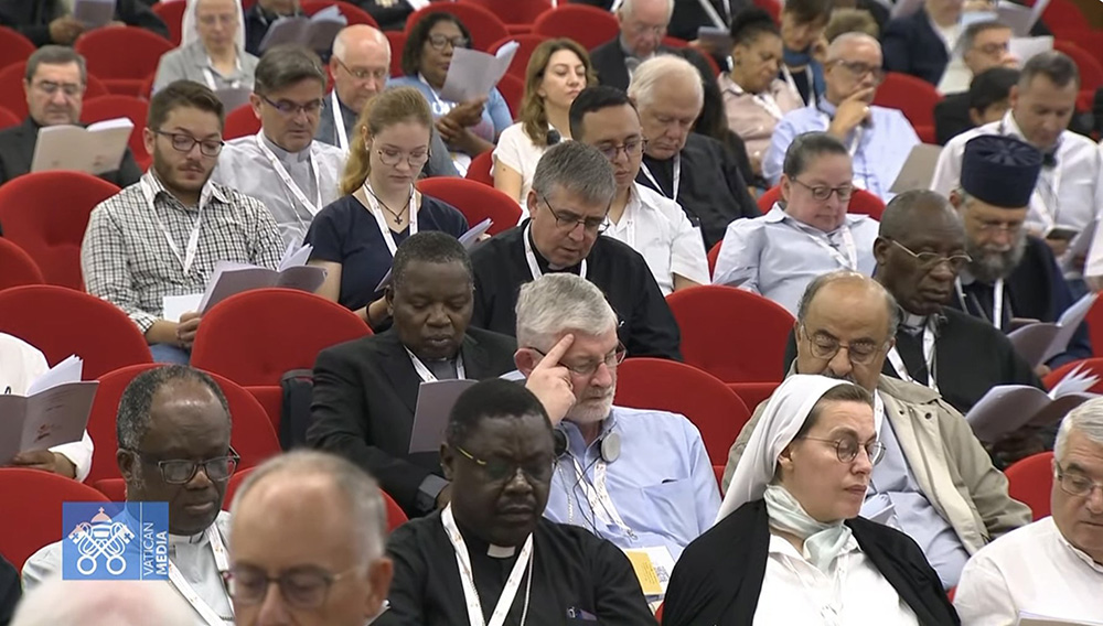
POLYGON ((0 465, 20 452, 81 441, 96 380, 82 381, 84 361, 71 356, 40 376, 26 396, 0 395, 0 465))

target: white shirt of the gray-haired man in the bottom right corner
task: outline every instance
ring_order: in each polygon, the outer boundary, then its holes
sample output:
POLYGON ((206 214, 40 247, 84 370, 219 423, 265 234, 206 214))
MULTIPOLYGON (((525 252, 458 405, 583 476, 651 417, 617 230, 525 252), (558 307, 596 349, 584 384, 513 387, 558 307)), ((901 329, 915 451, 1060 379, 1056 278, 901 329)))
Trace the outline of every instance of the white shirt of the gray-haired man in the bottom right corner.
POLYGON ((970 559, 954 593, 962 626, 1017 624, 1019 612, 1070 622, 1103 618, 1103 565, 1070 544, 1047 517, 996 539, 970 559))

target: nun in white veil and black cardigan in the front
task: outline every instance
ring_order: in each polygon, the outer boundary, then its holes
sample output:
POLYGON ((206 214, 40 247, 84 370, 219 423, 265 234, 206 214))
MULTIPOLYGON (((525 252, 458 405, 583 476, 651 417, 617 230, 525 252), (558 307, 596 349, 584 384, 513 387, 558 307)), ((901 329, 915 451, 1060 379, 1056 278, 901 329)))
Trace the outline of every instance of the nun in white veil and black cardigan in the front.
POLYGON ((857 517, 885 451, 879 422, 857 385, 785 379, 716 525, 674 568, 664 626, 960 624, 919 546, 857 517))

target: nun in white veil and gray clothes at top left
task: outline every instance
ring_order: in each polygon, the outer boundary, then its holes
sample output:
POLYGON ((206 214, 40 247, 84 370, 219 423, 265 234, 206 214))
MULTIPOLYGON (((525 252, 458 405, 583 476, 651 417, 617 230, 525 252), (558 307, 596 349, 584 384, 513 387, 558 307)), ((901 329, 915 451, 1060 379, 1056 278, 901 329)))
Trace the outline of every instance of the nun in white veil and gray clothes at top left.
POLYGON ((194 80, 212 91, 253 89, 257 57, 245 52, 240 0, 186 0, 181 43, 157 66, 153 91, 175 80, 194 80))

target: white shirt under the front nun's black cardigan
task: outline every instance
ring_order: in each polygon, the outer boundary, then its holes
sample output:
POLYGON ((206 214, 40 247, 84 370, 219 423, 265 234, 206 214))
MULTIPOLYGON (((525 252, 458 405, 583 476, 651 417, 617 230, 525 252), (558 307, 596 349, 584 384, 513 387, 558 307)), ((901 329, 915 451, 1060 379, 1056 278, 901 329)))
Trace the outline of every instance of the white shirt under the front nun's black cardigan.
POLYGON ((835 600, 835 576, 828 578, 808 562, 806 554, 797 552, 784 538, 771 533, 754 626, 919 624, 914 612, 866 558, 854 537, 839 553, 832 574, 838 572, 837 568, 843 571, 838 585, 840 593, 835 600), (827 622, 821 612, 833 602, 838 616, 827 622))

